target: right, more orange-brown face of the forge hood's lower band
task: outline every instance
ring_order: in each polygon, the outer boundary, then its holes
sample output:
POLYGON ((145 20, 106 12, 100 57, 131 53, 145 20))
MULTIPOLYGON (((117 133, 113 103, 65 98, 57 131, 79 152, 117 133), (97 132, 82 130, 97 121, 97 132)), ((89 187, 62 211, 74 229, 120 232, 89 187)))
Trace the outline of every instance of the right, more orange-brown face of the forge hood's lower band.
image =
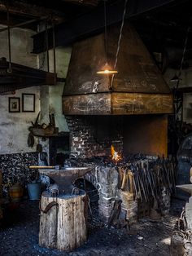
POLYGON ((172 95, 139 94, 139 93, 112 93, 112 114, 158 114, 172 113, 172 95))

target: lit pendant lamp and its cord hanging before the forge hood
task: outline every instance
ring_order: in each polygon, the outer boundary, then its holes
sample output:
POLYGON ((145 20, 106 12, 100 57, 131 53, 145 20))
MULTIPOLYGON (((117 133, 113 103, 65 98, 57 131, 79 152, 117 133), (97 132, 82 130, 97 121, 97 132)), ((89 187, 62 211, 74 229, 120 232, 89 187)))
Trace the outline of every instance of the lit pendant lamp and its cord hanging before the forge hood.
POLYGON ((98 70, 98 74, 115 74, 118 73, 118 71, 115 68, 111 68, 111 66, 108 64, 108 54, 107 54, 107 18, 106 18, 106 1, 104 1, 104 22, 105 22, 105 57, 106 57, 106 64, 101 68, 101 70, 98 70))

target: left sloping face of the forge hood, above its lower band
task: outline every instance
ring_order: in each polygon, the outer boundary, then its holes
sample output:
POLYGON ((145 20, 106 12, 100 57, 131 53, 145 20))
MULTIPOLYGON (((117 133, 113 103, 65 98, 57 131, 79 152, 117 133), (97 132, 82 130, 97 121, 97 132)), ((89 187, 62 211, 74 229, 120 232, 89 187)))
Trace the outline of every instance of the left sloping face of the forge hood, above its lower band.
POLYGON ((95 82, 99 83, 99 91, 109 91, 109 77, 97 74, 105 61, 103 34, 76 42, 72 47, 63 95, 92 93, 95 82))

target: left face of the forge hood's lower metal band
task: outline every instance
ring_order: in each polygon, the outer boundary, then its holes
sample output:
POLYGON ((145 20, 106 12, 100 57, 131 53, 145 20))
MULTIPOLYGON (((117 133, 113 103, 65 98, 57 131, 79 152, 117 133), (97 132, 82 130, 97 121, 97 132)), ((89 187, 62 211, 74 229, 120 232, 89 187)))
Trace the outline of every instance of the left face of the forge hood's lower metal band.
POLYGON ((65 115, 108 115, 111 114, 111 95, 72 95, 63 96, 65 115))

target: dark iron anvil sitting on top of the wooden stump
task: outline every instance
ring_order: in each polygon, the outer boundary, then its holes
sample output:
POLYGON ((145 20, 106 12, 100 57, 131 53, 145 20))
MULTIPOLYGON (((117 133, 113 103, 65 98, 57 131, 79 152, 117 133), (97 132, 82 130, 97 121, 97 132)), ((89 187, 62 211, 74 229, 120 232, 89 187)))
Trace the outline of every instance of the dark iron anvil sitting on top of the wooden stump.
POLYGON ((39 169, 40 174, 44 174, 55 181, 59 186, 59 193, 71 194, 74 182, 81 178, 84 174, 91 171, 93 167, 66 167, 61 170, 55 169, 39 169))

